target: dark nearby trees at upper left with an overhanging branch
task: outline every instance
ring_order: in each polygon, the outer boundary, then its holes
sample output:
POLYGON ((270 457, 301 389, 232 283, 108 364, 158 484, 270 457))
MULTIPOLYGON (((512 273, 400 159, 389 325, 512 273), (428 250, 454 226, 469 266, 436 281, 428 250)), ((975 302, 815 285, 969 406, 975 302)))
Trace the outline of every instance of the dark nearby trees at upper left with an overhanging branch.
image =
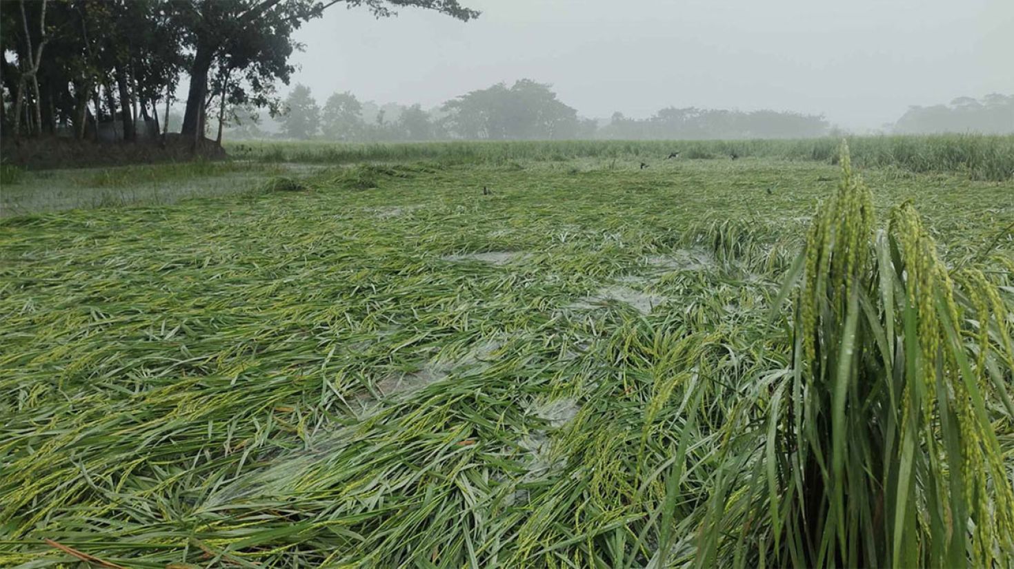
POLYGON ((136 140, 157 130, 183 77, 182 124, 197 140, 208 115, 275 111, 288 84, 294 30, 336 4, 376 16, 416 6, 467 20, 457 0, 3 0, 0 9, 0 131, 14 139, 89 133, 99 125, 136 140))

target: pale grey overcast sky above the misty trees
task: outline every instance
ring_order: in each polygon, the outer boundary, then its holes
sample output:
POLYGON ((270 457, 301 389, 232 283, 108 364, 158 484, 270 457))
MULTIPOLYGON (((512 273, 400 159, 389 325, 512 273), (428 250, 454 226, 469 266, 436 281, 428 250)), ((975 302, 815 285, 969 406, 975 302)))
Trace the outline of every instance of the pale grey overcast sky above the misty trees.
POLYGON ((341 5, 296 38, 319 103, 440 104, 500 81, 552 83, 584 116, 665 106, 823 113, 853 129, 911 104, 1014 94, 1014 0, 461 0, 467 23, 341 5))

